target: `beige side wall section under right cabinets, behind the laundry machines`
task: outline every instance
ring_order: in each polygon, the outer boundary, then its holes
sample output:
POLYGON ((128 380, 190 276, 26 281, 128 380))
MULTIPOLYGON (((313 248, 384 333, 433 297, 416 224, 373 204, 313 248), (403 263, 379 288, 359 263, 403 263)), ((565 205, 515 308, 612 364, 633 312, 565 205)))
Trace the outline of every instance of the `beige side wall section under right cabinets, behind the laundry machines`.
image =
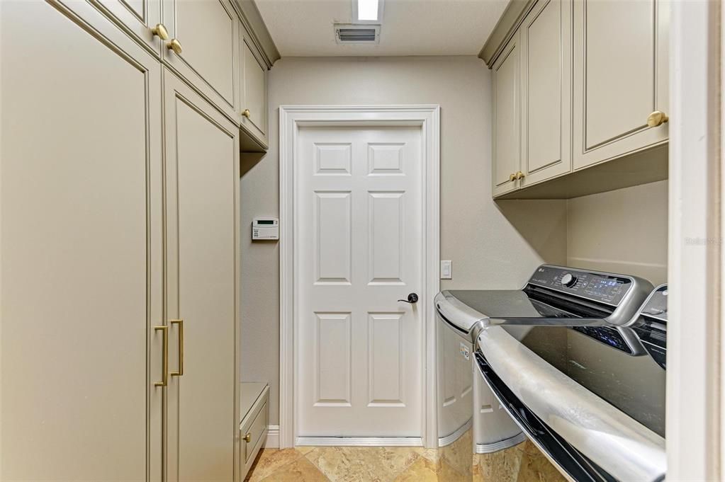
POLYGON ((667 181, 567 201, 571 266, 667 281, 667 181))

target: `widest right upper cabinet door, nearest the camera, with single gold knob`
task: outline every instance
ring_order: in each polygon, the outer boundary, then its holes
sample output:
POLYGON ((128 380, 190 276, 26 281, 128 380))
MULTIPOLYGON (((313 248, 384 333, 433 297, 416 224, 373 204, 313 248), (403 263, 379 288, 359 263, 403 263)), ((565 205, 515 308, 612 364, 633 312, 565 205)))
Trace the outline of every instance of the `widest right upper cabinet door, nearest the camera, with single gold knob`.
POLYGON ((667 140, 668 25, 662 0, 575 1, 574 169, 667 140))

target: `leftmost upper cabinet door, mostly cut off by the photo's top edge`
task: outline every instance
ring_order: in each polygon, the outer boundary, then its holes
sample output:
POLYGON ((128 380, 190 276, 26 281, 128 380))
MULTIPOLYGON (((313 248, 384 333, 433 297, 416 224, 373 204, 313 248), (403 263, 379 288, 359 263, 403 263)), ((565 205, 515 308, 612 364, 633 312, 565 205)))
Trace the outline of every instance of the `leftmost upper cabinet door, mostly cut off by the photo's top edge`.
MULTIPOLYGON (((161 22, 160 0, 96 0, 116 22, 128 28, 155 54, 161 54, 162 39, 151 30, 161 22)), ((71 4, 72 5, 72 4, 71 4)))

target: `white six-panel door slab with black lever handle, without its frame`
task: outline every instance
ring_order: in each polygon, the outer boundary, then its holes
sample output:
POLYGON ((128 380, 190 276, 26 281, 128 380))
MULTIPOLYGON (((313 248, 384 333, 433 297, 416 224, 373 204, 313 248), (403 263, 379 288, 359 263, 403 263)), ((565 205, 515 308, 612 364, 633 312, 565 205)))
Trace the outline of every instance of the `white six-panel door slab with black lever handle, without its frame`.
POLYGON ((298 437, 421 437, 421 127, 302 127, 298 437))

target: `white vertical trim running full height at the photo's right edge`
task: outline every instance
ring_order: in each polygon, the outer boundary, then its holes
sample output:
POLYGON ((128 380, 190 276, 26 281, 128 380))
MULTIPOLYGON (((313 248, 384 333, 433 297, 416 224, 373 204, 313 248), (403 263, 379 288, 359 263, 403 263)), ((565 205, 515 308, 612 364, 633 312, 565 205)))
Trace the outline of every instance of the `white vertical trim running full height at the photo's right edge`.
POLYGON ((671 2, 667 479, 721 479, 719 2, 671 2))

